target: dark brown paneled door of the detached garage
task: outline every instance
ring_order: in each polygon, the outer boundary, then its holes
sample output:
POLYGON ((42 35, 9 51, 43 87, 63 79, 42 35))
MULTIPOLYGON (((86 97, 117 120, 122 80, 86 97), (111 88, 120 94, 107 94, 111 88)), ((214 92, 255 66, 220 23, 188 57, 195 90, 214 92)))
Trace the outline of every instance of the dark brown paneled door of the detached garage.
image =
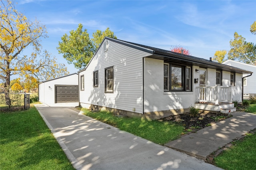
POLYGON ((55 86, 55 103, 78 102, 78 86, 55 86))

